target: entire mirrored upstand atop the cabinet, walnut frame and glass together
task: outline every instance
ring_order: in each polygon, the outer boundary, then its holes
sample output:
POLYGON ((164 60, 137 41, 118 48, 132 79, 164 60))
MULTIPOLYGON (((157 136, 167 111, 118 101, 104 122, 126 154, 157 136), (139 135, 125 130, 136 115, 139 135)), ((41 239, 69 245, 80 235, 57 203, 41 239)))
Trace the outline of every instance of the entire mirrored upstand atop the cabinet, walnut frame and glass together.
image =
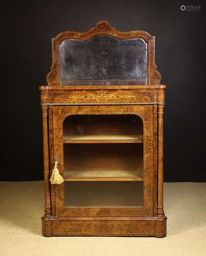
POLYGON ((135 87, 160 81, 154 36, 145 31, 121 32, 103 20, 87 32, 65 31, 52 38, 48 86, 135 87))

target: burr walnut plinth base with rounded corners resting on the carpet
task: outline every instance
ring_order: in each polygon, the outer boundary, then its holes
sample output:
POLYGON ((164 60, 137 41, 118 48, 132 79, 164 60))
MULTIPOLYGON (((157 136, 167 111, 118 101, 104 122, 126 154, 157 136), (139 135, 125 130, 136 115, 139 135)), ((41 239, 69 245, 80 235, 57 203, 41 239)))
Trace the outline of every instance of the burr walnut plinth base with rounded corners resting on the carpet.
POLYGON ((167 235, 162 217, 48 217, 42 218, 42 234, 52 236, 158 237, 167 235))

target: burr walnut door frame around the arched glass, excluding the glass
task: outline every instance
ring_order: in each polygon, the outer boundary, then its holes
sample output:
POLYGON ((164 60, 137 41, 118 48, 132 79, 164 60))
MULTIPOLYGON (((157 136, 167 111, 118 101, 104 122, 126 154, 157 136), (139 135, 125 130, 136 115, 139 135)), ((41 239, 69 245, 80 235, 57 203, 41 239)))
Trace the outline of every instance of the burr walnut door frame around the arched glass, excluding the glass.
MULTIPOLYGON (((64 207, 63 184, 51 185, 55 200, 52 200, 53 215, 56 216, 153 216, 156 195, 153 195, 156 169, 153 164, 154 147, 154 108, 153 105, 93 105, 93 106, 53 106, 53 154, 60 160, 59 171, 63 169, 62 124, 70 115, 83 114, 134 114, 143 120, 144 127, 144 207, 64 207)), ((51 126, 51 125, 50 125, 51 126)), ((51 169, 54 159, 50 158, 51 169)), ((155 191, 155 189, 154 189, 155 191)))

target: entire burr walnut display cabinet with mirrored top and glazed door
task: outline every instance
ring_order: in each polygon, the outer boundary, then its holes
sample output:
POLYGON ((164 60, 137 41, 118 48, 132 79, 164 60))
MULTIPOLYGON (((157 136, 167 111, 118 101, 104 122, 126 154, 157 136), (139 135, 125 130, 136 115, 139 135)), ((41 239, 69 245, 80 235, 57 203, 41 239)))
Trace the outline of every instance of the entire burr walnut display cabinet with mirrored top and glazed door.
POLYGON ((166 236, 160 80, 147 32, 102 21, 52 39, 43 236, 166 236))

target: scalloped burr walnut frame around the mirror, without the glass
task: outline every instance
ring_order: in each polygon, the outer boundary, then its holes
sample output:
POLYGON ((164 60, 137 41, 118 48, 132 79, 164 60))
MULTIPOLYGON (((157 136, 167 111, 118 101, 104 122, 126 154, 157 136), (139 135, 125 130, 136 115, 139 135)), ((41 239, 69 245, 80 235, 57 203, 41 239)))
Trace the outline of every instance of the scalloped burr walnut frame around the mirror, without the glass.
MULTIPOLYGON (((102 39, 102 38, 101 38, 102 39)), ((108 39, 107 39, 108 40, 108 39)), ((102 41, 102 40, 99 40, 102 41)), ((79 44, 80 44, 79 43, 79 44)), ((47 83, 49 86, 74 86, 74 85, 92 85, 92 84, 105 84, 105 85, 131 85, 131 84, 159 84, 161 81, 161 75, 157 72, 156 70, 156 65, 155 65, 155 60, 154 60, 154 36, 151 36, 145 31, 129 31, 129 32, 121 32, 116 30, 115 28, 111 27, 111 25, 104 21, 101 21, 97 23, 95 28, 90 29, 88 32, 85 33, 78 33, 78 32, 73 32, 73 31, 66 31, 62 32, 59 35, 57 35, 55 38, 52 38, 52 54, 53 54, 53 63, 51 67, 51 71, 47 76, 47 83), (147 79, 142 79, 138 81, 133 81, 133 82, 127 82, 126 80, 120 81, 118 79, 115 82, 109 83, 108 81, 106 82, 105 80, 108 80, 107 78, 103 79, 104 81, 102 82, 101 80, 97 80, 95 83, 91 83, 90 81, 86 80, 81 80, 77 82, 67 82, 62 84, 61 82, 61 75, 60 75, 60 70, 61 70, 61 46, 65 44, 67 39, 75 39, 80 41, 88 41, 93 39, 94 37, 100 36, 100 35, 106 35, 107 37, 112 37, 115 39, 122 39, 127 41, 126 39, 143 39, 144 42, 146 43, 147 46, 147 79)), ((74 45, 74 44, 73 44, 74 45)), ((72 46, 71 46, 72 47, 72 46)), ((84 47, 84 49, 86 46, 84 47)), ((113 47, 114 48, 114 47, 113 47)), ((125 49, 128 48, 127 45, 125 46, 125 49)), ((118 49, 119 50, 119 49, 118 49)), ((120 54, 119 54, 120 56, 120 54)), ((101 57, 101 56, 100 56, 101 57)), ((105 57, 105 55, 103 55, 105 57)), ((129 57, 128 57, 129 58, 129 57)), ((76 58, 77 59, 77 58, 76 58)), ((125 59, 125 58, 124 58, 125 59)), ((123 65, 122 65, 123 66, 123 65)), ((101 67, 99 69, 99 72, 97 70, 97 73, 101 72, 101 67)), ((115 72, 114 72, 115 73, 115 72)), ((115 74, 113 74, 113 78, 116 79, 115 74)), ((93 79, 91 77, 91 79, 93 79)), ((94 78, 95 79, 95 78, 94 78)))

